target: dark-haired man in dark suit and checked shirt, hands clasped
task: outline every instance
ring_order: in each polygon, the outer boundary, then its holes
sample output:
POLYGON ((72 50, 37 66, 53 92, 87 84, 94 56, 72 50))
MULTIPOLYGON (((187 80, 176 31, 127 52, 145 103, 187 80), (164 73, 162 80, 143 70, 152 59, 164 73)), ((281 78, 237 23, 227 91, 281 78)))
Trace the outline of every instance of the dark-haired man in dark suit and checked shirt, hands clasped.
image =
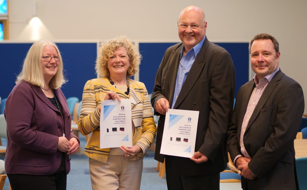
POLYGON ((238 92, 228 146, 244 190, 298 189, 293 140, 304 112, 301 86, 279 69, 279 45, 269 34, 250 43, 253 80, 238 92))

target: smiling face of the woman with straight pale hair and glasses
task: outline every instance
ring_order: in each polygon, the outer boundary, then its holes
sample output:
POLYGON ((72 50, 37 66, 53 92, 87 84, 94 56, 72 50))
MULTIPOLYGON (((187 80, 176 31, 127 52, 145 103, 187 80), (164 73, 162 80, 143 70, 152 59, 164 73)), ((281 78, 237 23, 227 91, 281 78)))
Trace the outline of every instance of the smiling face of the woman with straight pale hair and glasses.
POLYGON ((56 48, 50 45, 46 45, 43 49, 43 53, 41 55, 41 70, 43 72, 45 84, 48 85, 49 81, 52 79, 54 75, 56 75, 56 72, 58 71, 59 67, 59 61, 55 61, 54 58, 51 59, 51 61, 45 61, 43 57, 45 56, 59 56, 59 54, 56 51, 56 48))

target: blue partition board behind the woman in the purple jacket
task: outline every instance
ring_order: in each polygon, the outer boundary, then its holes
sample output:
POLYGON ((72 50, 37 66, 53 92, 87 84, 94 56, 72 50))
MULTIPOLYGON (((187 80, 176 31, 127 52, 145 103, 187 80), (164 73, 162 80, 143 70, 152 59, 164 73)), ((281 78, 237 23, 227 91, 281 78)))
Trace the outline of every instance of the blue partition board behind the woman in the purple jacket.
MULTIPOLYGON (((62 85, 66 98, 82 99, 84 84, 96 78, 95 60, 97 57, 96 43, 56 43, 60 49, 64 75, 68 82, 62 85)), ((23 60, 32 43, 0 43, 2 87, 0 97, 6 98, 15 85, 16 76, 22 68, 23 60)))

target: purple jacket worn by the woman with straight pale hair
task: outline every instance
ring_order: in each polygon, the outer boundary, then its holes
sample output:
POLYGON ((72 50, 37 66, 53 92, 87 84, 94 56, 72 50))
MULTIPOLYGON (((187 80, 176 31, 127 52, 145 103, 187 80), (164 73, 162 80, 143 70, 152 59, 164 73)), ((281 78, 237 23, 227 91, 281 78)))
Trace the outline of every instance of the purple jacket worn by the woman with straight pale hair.
MULTIPOLYGON (((63 108, 63 117, 38 86, 21 81, 13 88, 4 110, 6 173, 49 175, 59 169, 62 152, 57 149, 58 137, 63 136, 63 130, 68 140, 77 137, 70 132, 72 119, 64 94, 60 89, 54 93, 63 108)), ((67 154, 65 160, 68 174, 70 159, 67 154)))

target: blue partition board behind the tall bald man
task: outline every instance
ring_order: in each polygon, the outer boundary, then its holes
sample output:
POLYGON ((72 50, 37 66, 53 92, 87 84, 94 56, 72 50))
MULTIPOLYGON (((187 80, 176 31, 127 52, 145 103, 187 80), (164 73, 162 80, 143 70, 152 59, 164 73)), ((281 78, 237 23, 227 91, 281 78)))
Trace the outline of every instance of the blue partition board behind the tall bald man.
MULTIPOLYGON (((164 56, 165 50, 176 43, 140 43, 139 51, 142 54, 140 65, 140 81, 147 88, 148 93, 152 93, 154 80, 158 67, 164 56)), ((248 43, 216 43, 225 48, 231 55, 235 65, 235 96, 239 88, 245 84, 248 77, 249 52, 248 43)))

